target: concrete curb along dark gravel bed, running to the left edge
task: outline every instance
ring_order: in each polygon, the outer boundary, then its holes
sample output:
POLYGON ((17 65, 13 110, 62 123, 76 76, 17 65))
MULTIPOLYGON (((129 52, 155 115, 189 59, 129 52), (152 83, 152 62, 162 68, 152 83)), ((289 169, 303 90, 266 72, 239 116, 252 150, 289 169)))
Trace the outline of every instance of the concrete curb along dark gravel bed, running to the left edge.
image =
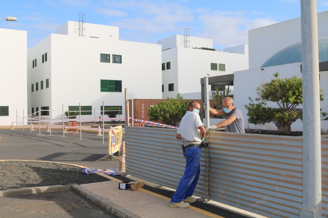
MULTIPOLYGON (((75 185, 75 184, 74 184, 75 185)), ((1 190, 0 197, 8 197, 12 195, 22 195, 22 194, 36 194, 45 192, 55 192, 71 189, 71 185, 57 185, 57 186, 41 186, 32 188, 18 188, 18 189, 8 189, 1 190)))

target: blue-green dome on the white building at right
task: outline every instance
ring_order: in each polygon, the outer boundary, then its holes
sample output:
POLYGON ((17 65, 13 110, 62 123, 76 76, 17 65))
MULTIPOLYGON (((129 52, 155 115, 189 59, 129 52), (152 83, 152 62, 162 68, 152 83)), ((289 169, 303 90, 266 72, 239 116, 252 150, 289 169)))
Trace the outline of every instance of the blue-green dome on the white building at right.
MULTIPOLYGON (((302 62, 302 44, 295 43, 272 55, 260 68, 302 62)), ((318 38, 319 61, 328 61, 328 37, 318 38)))

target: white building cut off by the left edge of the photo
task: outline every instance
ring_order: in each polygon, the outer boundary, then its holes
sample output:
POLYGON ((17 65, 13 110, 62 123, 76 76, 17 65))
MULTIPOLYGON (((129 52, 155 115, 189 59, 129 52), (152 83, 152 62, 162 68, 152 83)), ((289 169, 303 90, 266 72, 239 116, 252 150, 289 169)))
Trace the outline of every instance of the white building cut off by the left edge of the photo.
POLYGON ((0 29, 0 51, 0 126, 8 126, 16 111, 27 115, 27 32, 0 29))

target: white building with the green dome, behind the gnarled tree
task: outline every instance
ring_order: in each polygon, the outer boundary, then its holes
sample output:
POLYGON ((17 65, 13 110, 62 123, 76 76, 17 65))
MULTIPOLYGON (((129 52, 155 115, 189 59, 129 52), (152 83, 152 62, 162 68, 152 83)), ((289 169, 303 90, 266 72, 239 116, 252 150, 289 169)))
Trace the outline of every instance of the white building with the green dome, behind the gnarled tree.
MULTIPOLYGON (((328 61, 328 11, 318 13, 318 38, 320 89, 323 89, 325 99, 320 102, 320 107, 323 112, 328 112, 328 68, 324 67, 328 61)), ((264 126, 249 124, 244 105, 249 103, 248 97, 255 100, 256 87, 269 82, 276 72, 280 74, 279 78, 302 77, 300 65, 300 18, 249 31, 250 69, 234 73, 234 102, 244 115, 245 128, 277 130, 272 123, 264 126)), ((268 106, 276 105, 269 103, 268 106)), ((297 120, 291 128, 292 131, 302 131, 302 122, 297 120)), ((321 131, 328 131, 328 121, 321 121, 321 131)))

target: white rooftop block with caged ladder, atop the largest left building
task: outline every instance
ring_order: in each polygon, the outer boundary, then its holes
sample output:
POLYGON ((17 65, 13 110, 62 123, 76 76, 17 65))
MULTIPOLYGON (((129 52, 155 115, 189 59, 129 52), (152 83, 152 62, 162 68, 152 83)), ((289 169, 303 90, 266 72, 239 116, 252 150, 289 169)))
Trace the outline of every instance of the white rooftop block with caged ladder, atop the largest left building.
MULTIPOLYGON (((85 30, 83 30, 83 34, 88 38, 98 37, 111 40, 119 39, 118 27, 85 23, 84 28, 85 30)), ((56 34, 79 36, 79 22, 68 21, 56 30, 56 34)))

